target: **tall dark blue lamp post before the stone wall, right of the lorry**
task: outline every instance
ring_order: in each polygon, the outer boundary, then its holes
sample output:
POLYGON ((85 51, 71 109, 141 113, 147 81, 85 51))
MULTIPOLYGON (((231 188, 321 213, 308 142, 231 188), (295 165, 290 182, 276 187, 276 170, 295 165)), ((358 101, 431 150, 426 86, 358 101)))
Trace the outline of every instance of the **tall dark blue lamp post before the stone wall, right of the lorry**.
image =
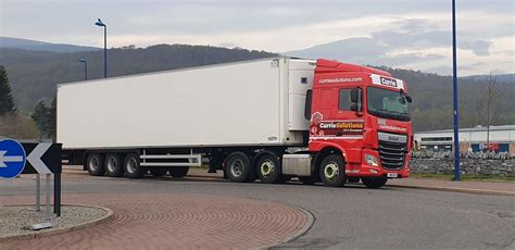
POLYGON ((454 102, 454 180, 461 180, 460 171, 460 116, 457 113, 457 62, 456 62, 456 0, 452 0, 452 92, 454 102))

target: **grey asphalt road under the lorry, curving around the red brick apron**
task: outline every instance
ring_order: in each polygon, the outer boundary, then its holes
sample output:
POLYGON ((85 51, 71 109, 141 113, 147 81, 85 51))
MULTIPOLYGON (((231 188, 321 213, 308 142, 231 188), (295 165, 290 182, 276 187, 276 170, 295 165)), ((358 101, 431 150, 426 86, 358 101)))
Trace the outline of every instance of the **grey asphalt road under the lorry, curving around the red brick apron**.
MULTIPOLYGON (((0 180, 0 196, 32 195, 34 179, 0 180)), ((515 198, 360 185, 346 188, 233 184, 216 178, 184 180, 63 176, 64 193, 201 193, 296 205, 315 222, 277 248, 319 249, 515 249, 515 198)), ((64 200, 65 202, 65 200, 64 200)), ((237 240, 237 239, 235 239, 237 240)))

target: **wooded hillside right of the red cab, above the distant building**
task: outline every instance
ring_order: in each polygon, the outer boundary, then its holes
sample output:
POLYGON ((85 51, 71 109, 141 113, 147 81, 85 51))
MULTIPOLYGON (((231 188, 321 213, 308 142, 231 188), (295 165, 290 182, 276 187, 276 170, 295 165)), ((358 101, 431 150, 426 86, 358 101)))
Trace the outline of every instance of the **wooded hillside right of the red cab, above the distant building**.
MULTIPOLYGON (((407 82, 413 97, 411 109, 414 129, 434 130, 453 127, 452 77, 419 71, 380 67, 407 82)), ((487 125, 489 76, 459 78, 460 127, 487 125)), ((495 76, 492 76, 495 79, 495 76)), ((497 79, 491 95, 491 125, 515 124, 515 83, 497 79)))

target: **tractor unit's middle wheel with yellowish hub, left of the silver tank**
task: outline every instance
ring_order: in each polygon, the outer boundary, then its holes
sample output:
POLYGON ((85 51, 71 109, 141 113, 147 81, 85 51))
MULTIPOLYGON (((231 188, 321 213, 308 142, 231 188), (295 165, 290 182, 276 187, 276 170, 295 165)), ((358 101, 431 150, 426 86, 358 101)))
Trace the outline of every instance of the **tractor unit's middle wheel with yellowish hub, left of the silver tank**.
POLYGON ((255 168, 258 177, 265 184, 284 183, 286 176, 281 176, 280 164, 277 157, 272 153, 265 153, 256 161, 255 168))

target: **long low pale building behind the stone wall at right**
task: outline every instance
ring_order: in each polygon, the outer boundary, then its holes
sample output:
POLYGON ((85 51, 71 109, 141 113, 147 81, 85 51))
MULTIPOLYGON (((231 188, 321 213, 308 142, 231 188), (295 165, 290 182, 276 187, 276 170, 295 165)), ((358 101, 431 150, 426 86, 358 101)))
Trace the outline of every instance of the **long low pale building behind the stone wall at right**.
MULTIPOLYGON (((452 151, 453 129, 415 133, 417 150, 452 151)), ((490 126, 490 145, 487 127, 460 128, 460 151, 480 152, 488 149, 515 154, 515 125, 490 126)))

